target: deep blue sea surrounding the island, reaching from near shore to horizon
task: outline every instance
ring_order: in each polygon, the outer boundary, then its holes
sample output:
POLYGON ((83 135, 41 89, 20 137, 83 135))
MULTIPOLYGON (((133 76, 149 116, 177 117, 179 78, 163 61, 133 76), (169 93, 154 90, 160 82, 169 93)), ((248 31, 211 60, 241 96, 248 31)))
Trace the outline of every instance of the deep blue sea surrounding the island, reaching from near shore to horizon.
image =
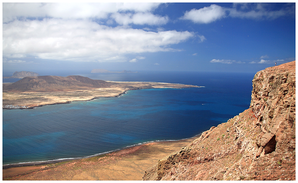
POLYGON ((254 74, 77 74, 114 81, 205 86, 3 112, 3 165, 86 157, 154 140, 194 137, 249 108, 254 74))

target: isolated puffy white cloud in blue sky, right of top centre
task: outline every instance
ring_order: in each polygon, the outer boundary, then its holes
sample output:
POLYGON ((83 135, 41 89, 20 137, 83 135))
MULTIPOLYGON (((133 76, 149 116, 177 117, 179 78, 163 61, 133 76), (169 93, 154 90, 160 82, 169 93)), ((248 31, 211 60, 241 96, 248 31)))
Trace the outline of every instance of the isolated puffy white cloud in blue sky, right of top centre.
POLYGON ((209 7, 187 11, 181 19, 191 20, 199 24, 208 24, 223 18, 225 15, 226 13, 223 7, 211 4, 209 7))

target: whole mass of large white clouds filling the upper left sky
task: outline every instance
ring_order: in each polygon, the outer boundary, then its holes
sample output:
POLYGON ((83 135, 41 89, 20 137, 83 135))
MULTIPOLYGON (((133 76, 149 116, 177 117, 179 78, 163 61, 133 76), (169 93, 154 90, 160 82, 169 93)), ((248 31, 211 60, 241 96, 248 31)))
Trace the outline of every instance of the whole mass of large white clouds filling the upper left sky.
MULTIPOLYGON (((188 31, 145 31, 127 25, 161 25, 159 3, 3 3, 2 52, 7 58, 136 62, 127 54, 180 51, 170 46, 188 31), (116 26, 103 22, 115 21, 116 26)), ((204 36, 200 37, 204 40, 204 36)), ((139 58, 142 59, 142 58, 139 58)))

